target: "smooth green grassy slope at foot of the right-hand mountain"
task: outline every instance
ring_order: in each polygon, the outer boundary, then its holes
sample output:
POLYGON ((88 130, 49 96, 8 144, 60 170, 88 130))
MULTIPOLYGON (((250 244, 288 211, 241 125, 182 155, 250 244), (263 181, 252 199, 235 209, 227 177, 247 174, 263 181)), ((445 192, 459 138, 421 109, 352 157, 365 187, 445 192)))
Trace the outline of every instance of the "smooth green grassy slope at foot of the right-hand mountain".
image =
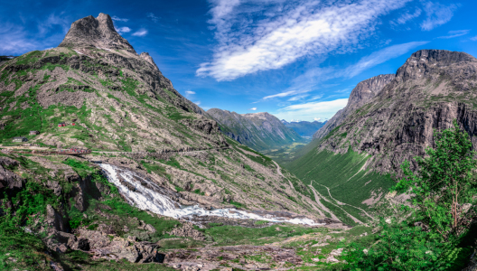
MULTIPOLYGON (((311 149, 294 162, 287 164, 290 172, 301 179, 305 184, 312 183, 313 187, 323 196, 337 201, 351 204, 363 210, 369 210, 369 206, 362 201, 371 198, 371 192, 382 193, 384 196, 388 189, 394 185, 389 175, 380 175, 362 170, 362 166, 369 159, 367 154, 358 154, 349 150, 347 154, 334 154, 329 151, 317 152, 312 145, 318 145, 316 141, 310 144, 311 149)), ((330 205, 330 204, 328 204, 330 205)), ((350 206, 341 206, 360 220, 366 220, 361 211, 350 206)), ((342 218, 339 214, 337 216, 342 218)))

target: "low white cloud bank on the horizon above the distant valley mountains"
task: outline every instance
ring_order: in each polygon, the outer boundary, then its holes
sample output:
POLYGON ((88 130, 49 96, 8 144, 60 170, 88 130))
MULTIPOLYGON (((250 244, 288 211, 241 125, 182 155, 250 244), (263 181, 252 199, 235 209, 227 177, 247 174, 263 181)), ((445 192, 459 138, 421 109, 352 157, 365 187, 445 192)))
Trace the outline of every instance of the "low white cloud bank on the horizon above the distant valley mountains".
POLYGON ((276 114, 279 119, 295 119, 312 120, 317 116, 320 118, 330 118, 336 114, 342 107, 346 107, 348 98, 340 98, 330 101, 308 102, 293 106, 284 107, 276 114))

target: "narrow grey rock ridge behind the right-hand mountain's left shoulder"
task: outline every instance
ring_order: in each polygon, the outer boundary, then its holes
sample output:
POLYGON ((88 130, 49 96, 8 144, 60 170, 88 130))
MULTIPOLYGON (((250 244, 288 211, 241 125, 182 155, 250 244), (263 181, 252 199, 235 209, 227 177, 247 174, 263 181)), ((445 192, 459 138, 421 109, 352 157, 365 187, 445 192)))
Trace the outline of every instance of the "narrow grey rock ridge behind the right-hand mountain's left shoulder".
POLYGON ((320 139, 328 135, 335 127, 340 126, 343 120, 350 116, 354 110, 369 103, 372 98, 376 97, 394 77, 394 74, 384 74, 361 81, 356 88, 351 91, 348 105, 338 111, 332 119, 316 131, 313 135, 313 139, 320 139))

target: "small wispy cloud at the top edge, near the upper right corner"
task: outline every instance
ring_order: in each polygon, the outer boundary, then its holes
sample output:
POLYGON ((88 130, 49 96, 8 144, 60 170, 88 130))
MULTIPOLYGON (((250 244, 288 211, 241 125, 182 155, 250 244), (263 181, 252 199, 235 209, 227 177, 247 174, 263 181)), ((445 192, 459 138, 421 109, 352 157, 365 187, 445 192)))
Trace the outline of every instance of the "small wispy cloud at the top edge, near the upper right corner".
POLYGON ((451 21, 454 11, 459 5, 442 5, 439 3, 426 2, 424 10, 426 11, 426 20, 421 23, 423 31, 433 30, 435 27, 451 21))

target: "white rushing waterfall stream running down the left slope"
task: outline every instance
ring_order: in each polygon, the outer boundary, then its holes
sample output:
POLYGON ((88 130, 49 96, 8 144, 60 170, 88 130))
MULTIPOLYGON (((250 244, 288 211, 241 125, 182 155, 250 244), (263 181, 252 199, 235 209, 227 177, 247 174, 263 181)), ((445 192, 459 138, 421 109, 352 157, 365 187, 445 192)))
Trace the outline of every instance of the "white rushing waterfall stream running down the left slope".
POLYGON ((215 209, 206 210, 199 205, 182 207, 178 203, 171 200, 169 197, 161 192, 164 189, 155 184, 154 182, 145 180, 145 178, 139 176, 136 173, 127 171, 125 169, 119 169, 117 166, 111 164, 99 164, 101 168, 107 173, 108 181, 116 185, 117 190, 126 198, 129 204, 136 206, 141 210, 149 210, 157 214, 161 214, 167 217, 175 219, 179 218, 192 218, 195 216, 216 216, 230 219, 242 219, 242 220, 267 220, 271 222, 289 222, 293 224, 304 224, 310 226, 323 225, 315 223, 313 220, 307 218, 280 218, 271 215, 261 216, 255 213, 251 213, 245 210, 236 209, 215 209), (129 188, 134 187, 134 191, 131 191, 125 184, 120 182, 126 182, 129 188), (145 184, 145 185, 143 185, 145 184), (147 188, 145 186, 149 186, 147 188))

